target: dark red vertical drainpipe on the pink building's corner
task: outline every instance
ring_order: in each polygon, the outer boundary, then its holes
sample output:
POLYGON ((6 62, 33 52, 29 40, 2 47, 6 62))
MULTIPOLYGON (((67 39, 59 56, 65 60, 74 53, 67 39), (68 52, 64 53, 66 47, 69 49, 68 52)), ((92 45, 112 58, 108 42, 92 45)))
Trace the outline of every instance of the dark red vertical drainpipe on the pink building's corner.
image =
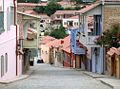
POLYGON ((18 63, 18 58, 17 58, 17 56, 18 56, 18 52, 17 52, 17 49, 18 49, 18 42, 17 42, 17 24, 16 24, 16 3, 17 3, 17 1, 16 0, 13 0, 13 4, 14 4, 14 25, 16 26, 16 76, 18 75, 18 65, 17 65, 17 63, 18 63))

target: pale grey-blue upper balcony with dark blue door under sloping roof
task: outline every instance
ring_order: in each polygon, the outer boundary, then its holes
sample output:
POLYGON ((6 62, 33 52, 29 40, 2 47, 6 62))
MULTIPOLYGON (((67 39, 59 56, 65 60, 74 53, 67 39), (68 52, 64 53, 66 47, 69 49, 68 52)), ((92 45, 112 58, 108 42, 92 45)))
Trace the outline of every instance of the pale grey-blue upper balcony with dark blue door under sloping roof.
POLYGON ((102 33, 101 19, 101 15, 94 15, 93 17, 89 17, 88 20, 84 22, 84 25, 81 26, 80 42, 85 46, 100 47, 95 43, 95 41, 102 33))

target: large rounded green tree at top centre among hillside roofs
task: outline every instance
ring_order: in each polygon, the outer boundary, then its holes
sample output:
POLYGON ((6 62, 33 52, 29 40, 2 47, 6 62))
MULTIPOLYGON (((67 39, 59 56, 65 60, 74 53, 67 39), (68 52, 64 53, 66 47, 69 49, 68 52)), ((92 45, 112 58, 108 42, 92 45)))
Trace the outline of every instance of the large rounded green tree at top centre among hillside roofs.
POLYGON ((56 12, 56 10, 63 10, 63 8, 61 7, 61 5, 51 1, 47 4, 44 12, 48 16, 51 16, 52 14, 56 12))

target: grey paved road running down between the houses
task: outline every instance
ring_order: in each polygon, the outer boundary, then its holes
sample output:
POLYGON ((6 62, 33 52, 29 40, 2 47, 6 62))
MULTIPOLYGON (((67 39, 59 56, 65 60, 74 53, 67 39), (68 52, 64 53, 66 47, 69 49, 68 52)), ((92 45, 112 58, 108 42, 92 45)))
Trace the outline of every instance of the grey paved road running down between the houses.
POLYGON ((34 67, 34 73, 27 79, 0 85, 0 89, 111 89, 83 74, 68 68, 58 68, 47 64, 34 67))

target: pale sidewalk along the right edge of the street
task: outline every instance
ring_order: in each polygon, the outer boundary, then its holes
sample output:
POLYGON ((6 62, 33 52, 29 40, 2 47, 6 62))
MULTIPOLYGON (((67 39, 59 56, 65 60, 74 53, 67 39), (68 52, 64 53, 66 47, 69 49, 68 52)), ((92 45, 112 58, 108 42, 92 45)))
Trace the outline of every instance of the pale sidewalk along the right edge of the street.
POLYGON ((100 75, 92 72, 84 72, 84 74, 96 78, 97 80, 101 81, 103 84, 108 85, 113 89, 120 89, 120 79, 108 76, 108 75, 100 75))

